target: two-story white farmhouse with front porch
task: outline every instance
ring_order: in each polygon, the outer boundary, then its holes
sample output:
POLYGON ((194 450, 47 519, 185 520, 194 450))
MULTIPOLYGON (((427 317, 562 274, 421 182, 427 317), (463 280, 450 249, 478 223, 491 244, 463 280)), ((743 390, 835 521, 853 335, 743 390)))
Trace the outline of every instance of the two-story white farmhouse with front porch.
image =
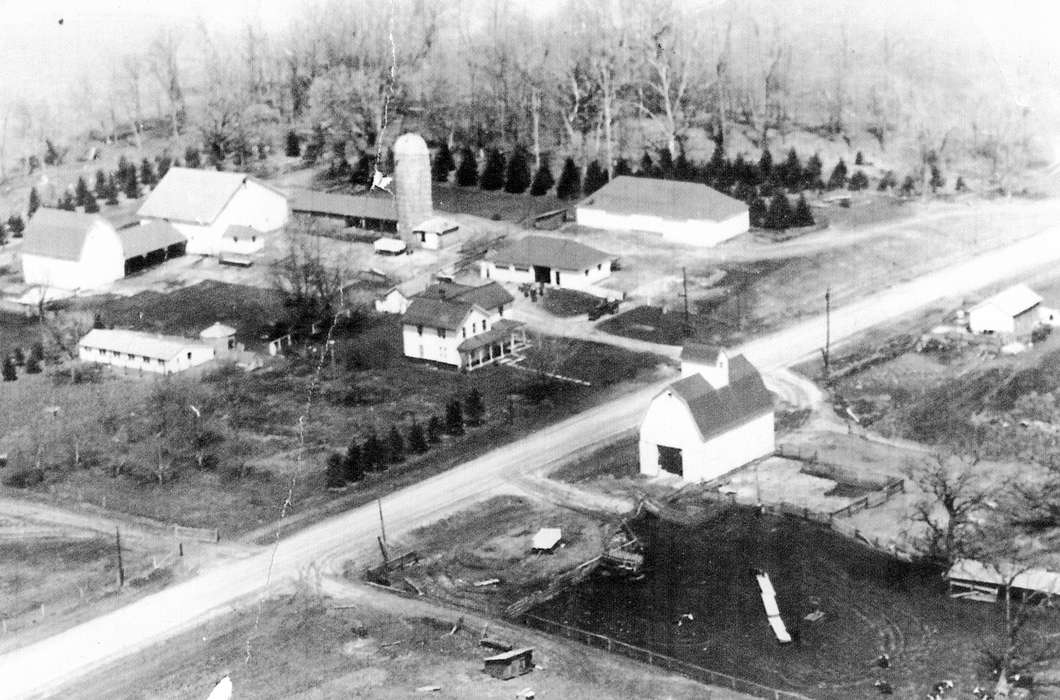
POLYGON ((405 355, 474 369, 527 346, 524 325, 505 317, 512 295, 496 282, 431 284, 402 316, 405 355))

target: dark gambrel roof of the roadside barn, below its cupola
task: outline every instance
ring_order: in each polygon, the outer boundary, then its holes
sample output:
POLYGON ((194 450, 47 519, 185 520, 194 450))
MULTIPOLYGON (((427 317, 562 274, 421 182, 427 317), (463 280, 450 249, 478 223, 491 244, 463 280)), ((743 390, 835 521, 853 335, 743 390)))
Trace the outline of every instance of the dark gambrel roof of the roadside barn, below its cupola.
POLYGON ((762 375, 743 355, 729 360, 727 386, 716 389, 702 374, 692 374, 664 391, 685 402, 704 440, 773 409, 773 395, 762 383, 762 375))

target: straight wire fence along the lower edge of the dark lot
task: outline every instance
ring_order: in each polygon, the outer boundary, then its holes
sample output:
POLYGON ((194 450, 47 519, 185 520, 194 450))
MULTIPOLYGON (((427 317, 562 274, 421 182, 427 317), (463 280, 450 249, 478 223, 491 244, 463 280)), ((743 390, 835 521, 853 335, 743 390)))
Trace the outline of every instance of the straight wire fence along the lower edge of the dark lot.
POLYGON ((658 666, 675 673, 687 676, 688 678, 708 685, 731 688, 739 693, 753 695, 756 698, 771 698, 772 700, 811 700, 809 697, 799 695, 798 693, 772 688, 767 685, 762 685, 761 683, 755 683, 754 681, 747 681, 742 678, 737 678, 736 676, 729 676, 728 673, 722 673, 721 671, 710 670, 709 668, 704 668, 703 666, 697 666, 696 664, 682 661, 681 659, 674 659, 673 657, 668 657, 657 651, 652 651, 651 649, 644 649, 643 647, 638 647, 626 642, 620 642, 607 636, 606 634, 597 634, 596 632, 578 629, 577 627, 568 627, 567 625, 561 625, 560 623, 545 619, 544 617, 537 617, 536 615, 519 615, 518 622, 527 627, 532 627, 533 629, 541 630, 549 634, 561 634, 568 640, 581 642, 587 646, 596 647, 597 649, 604 649, 612 653, 619 653, 623 657, 649 664, 651 666, 658 666))

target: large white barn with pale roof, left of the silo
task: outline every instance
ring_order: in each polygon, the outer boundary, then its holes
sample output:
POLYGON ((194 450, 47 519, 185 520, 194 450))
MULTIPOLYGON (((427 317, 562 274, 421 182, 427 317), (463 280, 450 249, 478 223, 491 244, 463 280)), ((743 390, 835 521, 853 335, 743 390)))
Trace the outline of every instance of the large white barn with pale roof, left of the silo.
POLYGON ((188 239, 188 252, 216 256, 230 226, 268 232, 287 223, 287 198, 244 173, 171 168, 137 214, 188 239))

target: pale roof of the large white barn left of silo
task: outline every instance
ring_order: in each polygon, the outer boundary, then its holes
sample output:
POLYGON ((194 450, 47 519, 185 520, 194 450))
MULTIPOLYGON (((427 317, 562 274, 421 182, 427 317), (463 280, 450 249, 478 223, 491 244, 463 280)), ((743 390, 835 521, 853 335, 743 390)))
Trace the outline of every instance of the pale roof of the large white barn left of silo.
MULTIPOLYGON (((240 188, 252 179, 245 173, 171 168, 137 213, 145 218, 212 224, 240 188)), ((264 182, 254 181, 268 188, 264 182)))

